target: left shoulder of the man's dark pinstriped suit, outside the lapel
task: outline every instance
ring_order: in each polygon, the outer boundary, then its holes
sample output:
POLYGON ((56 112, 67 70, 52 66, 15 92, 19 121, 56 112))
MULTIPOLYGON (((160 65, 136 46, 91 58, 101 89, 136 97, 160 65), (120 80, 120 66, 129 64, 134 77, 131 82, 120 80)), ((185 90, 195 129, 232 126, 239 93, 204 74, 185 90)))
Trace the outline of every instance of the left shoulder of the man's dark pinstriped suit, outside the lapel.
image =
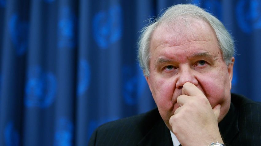
POLYGON ((154 109, 105 123, 92 134, 89 145, 136 145, 159 120, 158 109, 154 109))

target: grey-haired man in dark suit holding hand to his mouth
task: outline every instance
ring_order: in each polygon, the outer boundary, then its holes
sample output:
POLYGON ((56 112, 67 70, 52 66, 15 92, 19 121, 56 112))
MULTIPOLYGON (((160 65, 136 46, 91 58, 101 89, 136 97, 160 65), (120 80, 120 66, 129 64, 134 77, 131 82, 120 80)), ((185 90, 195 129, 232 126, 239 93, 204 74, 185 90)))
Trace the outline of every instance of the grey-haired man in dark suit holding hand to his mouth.
POLYGON ((261 104, 230 93, 234 42, 218 19, 174 5, 138 51, 158 108, 100 126, 89 145, 261 145, 261 104))

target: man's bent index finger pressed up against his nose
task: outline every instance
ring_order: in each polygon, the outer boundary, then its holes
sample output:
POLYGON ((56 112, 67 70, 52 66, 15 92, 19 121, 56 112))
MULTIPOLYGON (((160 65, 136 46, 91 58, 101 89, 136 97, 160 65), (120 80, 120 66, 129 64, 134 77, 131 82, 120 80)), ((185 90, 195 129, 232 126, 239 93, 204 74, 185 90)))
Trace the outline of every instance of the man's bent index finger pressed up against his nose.
MULTIPOLYGON (((204 95, 200 89, 197 88, 194 84, 190 82, 186 82, 182 87, 182 94, 186 94, 188 96, 197 96, 204 95)), ((204 95, 205 96, 205 95, 204 95)))

